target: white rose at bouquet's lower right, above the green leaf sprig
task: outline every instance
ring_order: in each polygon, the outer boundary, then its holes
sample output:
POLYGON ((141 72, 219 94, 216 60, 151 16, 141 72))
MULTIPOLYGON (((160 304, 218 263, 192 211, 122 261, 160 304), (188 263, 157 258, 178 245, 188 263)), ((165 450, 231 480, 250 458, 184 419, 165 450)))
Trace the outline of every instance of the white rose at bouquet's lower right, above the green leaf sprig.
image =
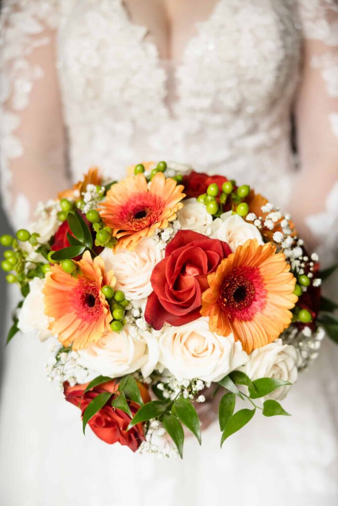
MULTIPOLYGON (((283 345, 281 339, 254 350, 242 370, 253 381, 271 377, 294 383, 298 376, 298 351, 292 345, 283 345)), ((290 386, 280 387, 267 395, 267 399, 283 400, 290 386)))

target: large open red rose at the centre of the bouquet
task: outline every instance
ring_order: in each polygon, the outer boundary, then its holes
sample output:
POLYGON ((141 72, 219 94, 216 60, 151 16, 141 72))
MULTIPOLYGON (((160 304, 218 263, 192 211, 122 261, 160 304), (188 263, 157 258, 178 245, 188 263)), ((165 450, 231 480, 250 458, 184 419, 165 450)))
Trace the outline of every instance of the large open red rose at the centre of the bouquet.
POLYGON ((230 253, 226 242, 191 230, 177 232, 151 276, 154 291, 144 313, 149 325, 159 330, 165 322, 179 326, 199 318, 207 276, 230 253))

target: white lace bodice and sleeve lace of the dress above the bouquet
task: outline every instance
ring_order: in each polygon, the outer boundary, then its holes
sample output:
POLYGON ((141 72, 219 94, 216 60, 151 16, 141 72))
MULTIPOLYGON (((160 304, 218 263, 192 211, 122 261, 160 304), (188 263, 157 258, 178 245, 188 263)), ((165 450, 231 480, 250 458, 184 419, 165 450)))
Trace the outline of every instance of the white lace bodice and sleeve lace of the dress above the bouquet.
POLYGON ((174 159, 231 175, 285 206, 304 66, 321 81, 330 150, 338 144, 335 0, 217 0, 176 63, 161 60, 122 0, 8 1, 3 25, 5 187, 11 160, 24 156, 21 111, 46 75, 33 55, 53 39, 73 179, 92 164, 116 178, 135 161, 174 159))

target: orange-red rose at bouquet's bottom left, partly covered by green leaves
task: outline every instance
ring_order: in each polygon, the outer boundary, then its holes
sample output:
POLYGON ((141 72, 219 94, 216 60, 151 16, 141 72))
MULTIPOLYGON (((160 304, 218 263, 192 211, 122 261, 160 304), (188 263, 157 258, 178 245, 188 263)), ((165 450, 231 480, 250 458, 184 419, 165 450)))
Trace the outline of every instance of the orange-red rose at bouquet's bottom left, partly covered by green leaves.
MULTIPOLYGON (((133 451, 136 451, 142 441, 144 441, 144 433, 142 424, 135 425, 127 432, 127 427, 131 420, 130 416, 121 409, 113 408, 111 401, 116 397, 119 387, 117 381, 110 381, 94 387, 84 394, 88 383, 84 385, 76 385, 70 387, 68 383, 64 384, 64 396, 66 401, 71 402, 74 406, 80 407, 82 416, 88 404, 103 392, 110 392, 111 398, 107 403, 89 420, 88 425, 96 436, 108 444, 119 442, 127 445, 133 451)), ((140 383, 138 387, 144 402, 151 400, 147 389, 140 383)), ((140 406, 133 401, 127 400, 132 414, 134 415, 140 406)))

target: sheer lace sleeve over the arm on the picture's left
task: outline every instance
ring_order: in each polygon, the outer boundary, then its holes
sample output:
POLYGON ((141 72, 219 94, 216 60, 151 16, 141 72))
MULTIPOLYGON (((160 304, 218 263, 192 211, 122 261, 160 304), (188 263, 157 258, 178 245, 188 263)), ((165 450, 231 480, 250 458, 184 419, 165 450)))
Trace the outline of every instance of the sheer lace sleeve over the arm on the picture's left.
POLYGON ((1 13, 1 171, 4 207, 26 226, 30 208, 65 187, 55 65, 57 0, 5 0, 1 13))

